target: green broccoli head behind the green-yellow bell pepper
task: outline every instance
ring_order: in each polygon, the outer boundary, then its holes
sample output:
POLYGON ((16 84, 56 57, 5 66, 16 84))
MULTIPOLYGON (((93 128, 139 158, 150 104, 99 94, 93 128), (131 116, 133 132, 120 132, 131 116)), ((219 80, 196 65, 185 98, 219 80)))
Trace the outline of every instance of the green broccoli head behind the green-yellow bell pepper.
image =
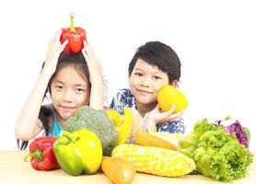
POLYGON ((80 129, 95 132, 100 139, 103 155, 111 155, 118 134, 105 110, 91 109, 88 106, 77 109, 74 116, 64 122, 64 131, 75 132, 80 129))

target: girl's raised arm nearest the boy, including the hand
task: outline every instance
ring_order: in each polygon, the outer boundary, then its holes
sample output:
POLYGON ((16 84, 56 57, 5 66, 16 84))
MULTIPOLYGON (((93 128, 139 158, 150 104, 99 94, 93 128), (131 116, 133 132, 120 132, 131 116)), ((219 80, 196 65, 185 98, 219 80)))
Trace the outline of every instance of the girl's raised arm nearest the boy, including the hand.
POLYGON ((87 41, 84 41, 84 46, 82 52, 87 60, 91 84, 89 106, 93 109, 103 109, 103 75, 101 64, 87 41))

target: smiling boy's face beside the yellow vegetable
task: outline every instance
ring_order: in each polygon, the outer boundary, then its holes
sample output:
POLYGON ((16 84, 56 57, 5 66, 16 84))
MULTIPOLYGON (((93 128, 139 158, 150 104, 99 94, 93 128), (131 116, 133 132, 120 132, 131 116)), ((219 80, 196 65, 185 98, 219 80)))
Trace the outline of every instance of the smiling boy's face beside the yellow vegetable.
POLYGON ((157 103, 157 92, 169 84, 167 73, 159 71, 156 67, 138 59, 129 78, 129 85, 136 103, 157 103))

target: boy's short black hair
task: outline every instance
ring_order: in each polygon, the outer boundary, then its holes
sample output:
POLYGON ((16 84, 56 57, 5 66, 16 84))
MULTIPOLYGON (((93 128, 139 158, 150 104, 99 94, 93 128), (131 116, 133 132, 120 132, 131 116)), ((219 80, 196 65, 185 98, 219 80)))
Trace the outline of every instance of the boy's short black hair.
POLYGON ((160 41, 149 41, 145 45, 140 46, 134 57, 129 63, 128 74, 131 75, 134 70, 134 65, 138 59, 142 59, 146 63, 156 66, 160 71, 167 73, 169 83, 174 80, 180 80, 180 59, 168 45, 160 41))

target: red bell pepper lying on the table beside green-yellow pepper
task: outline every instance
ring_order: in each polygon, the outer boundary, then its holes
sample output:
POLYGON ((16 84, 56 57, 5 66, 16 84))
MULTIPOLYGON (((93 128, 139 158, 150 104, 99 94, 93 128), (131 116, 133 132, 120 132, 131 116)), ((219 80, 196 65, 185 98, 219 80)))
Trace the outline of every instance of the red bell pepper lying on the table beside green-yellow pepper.
POLYGON ((52 170, 59 168, 59 164, 54 155, 52 145, 56 141, 55 137, 42 136, 36 138, 29 144, 29 154, 25 156, 25 161, 31 162, 31 166, 36 170, 52 170))

